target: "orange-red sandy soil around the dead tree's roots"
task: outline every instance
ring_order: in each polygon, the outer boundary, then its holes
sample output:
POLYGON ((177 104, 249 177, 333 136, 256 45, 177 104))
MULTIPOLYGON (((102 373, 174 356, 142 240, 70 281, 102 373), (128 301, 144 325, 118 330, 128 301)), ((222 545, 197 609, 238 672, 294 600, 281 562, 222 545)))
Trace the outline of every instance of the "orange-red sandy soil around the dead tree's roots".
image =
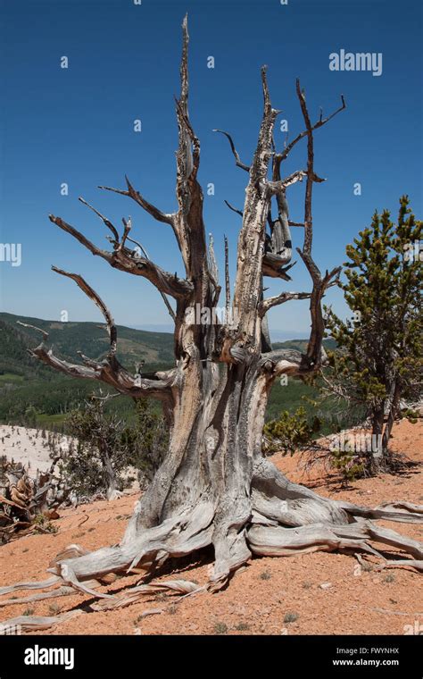
MULTIPOLYGON (((393 499, 421 504, 423 423, 405 421, 394 428, 392 448, 418 463, 400 474, 352 483, 340 489, 336 474, 322 469, 304 474, 300 457, 276 455, 273 460, 290 479, 302 482, 334 499, 376 506, 393 499)), ((54 524, 56 534, 29 535, 0 548, 0 586, 21 580, 43 580, 49 561, 67 545, 77 542, 97 549, 120 541, 137 499, 130 495, 108 502, 66 509, 54 524)), ((380 522, 398 532, 423 540, 423 526, 380 522)), ((379 545, 380 548, 380 545, 379 545)), ((386 551, 394 551, 387 548, 386 551)), ((206 583, 212 554, 172 559, 159 580, 186 579, 206 583)), ((377 571, 370 557, 370 570, 358 568, 354 557, 315 552, 294 557, 254 557, 228 587, 217 594, 198 593, 186 599, 161 593, 128 608, 90 612, 51 629, 52 634, 403 634, 411 625, 423 629, 421 575, 410 568, 377 571), (329 584, 328 584, 329 583, 329 584), (327 587, 321 585, 328 584, 327 587), (161 614, 137 620, 145 611, 161 614), (286 614, 298 616, 286 622, 286 614), (405 626, 405 628, 404 628, 405 626)), ((120 591, 139 582, 139 575, 123 577, 103 591, 120 591)), ((26 596, 31 591, 19 591, 26 596)), ((0 608, 0 619, 21 616, 31 608, 34 615, 52 616, 77 608, 92 599, 82 593, 29 604, 0 608), (53 608, 51 608, 53 606, 53 608)), ((410 632, 409 632, 410 633, 410 632)))

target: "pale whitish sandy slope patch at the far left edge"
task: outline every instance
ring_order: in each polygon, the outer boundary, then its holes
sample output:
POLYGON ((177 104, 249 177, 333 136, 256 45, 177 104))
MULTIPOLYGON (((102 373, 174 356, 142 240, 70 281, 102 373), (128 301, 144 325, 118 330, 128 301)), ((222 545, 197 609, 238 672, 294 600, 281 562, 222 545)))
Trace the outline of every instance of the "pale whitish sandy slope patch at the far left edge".
MULTIPOLYGON (((59 434, 54 436, 58 446, 67 450, 69 437, 59 434)), ((30 476, 36 476, 37 470, 45 472, 52 465, 47 440, 37 429, 0 424, 0 455, 27 466, 30 476)))

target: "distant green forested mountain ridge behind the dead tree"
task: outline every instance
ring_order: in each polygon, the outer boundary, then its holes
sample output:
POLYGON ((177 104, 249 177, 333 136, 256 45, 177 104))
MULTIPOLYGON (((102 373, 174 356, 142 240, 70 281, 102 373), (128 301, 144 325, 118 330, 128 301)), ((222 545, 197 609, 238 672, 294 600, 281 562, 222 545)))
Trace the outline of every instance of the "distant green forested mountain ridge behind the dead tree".
MULTIPOLYGON (((54 353, 72 363, 80 362, 77 351, 101 360, 108 348, 107 332, 100 323, 60 323, 0 312, 0 422, 29 426, 36 422, 43 426, 60 424, 71 409, 79 407, 93 391, 98 391, 100 384, 63 375, 29 356, 28 349, 37 347, 41 335, 22 327, 17 321, 47 331, 48 344, 54 346, 54 353)), ((328 345, 331 340, 325 341, 328 345)), ((291 339, 276 342, 273 347, 304 351, 307 341, 291 339)), ((145 361, 144 372, 169 368, 175 361, 173 335, 118 325, 118 357, 129 371, 135 372, 135 365, 141 360, 145 361)), ((298 395, 306 390, 302 384, 292 385, 288 394, 275 385, 269 411, 277 414, 286 398, 292 406, 294 393, 298 395)), ((301 401, 298 403, 301 404, 301 401)), ((133 408, 132 399, 113 399, 112 406, 120 408, 122 415, 127 416, 133 408)))

